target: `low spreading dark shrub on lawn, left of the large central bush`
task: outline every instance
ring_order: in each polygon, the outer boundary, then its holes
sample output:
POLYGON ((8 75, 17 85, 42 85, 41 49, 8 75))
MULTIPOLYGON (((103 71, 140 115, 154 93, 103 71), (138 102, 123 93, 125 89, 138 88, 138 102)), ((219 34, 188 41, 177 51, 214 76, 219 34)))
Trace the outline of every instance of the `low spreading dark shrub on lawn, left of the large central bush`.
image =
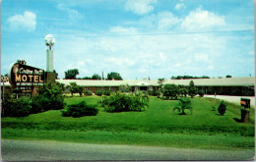
POLYGON ((96 116, 98 109, 96 105, 88 105, 85 101, 69 105, 65 111, 61 111, 63 117, 79 118, 83 116, 96 116))

